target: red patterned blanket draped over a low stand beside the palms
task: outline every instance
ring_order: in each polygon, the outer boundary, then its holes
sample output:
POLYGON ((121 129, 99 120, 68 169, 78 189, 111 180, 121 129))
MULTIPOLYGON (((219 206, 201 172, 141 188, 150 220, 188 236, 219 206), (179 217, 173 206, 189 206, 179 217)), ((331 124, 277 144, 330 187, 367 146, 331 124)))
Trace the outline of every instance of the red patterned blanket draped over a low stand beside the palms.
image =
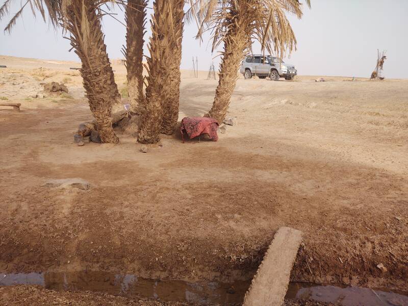
POLYGON ((217 141, 218 122, 213 118, 191 117, 183 118, 180 132, 184 143, 184 135, 187 134, 190 139, 201 134, 208 134, 210 139, 217 141))

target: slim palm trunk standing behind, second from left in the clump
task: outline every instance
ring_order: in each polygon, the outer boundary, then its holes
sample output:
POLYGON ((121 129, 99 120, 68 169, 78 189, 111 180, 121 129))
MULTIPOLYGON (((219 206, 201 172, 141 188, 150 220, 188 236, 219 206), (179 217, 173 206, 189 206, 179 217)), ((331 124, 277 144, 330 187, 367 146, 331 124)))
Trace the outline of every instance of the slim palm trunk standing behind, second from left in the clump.
POLYGON ((146 0, 129 0, 125 10, 126 20, 126 58, 127 92, 129 93, 131 111, 139 112, 143 104, 143 36, 146 25, 146 0))

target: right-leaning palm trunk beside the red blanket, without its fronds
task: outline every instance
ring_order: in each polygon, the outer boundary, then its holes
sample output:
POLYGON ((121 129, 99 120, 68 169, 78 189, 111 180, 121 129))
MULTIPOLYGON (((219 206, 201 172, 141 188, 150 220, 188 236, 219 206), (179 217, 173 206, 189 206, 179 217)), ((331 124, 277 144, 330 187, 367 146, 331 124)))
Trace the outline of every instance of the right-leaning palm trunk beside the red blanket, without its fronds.
POLYGON ((218 123, 222 123, 225 119, 231 96, 237 84, 238 70, 244 58, 244 50, 250 43, 250 36, 246 31, 247 24, 245 23, 244 18, 237 15, 234 22, 231 22, 230 30, 223 39, 224 50, 214 103, 210 112, 205 115, 216 119, 218 123))

